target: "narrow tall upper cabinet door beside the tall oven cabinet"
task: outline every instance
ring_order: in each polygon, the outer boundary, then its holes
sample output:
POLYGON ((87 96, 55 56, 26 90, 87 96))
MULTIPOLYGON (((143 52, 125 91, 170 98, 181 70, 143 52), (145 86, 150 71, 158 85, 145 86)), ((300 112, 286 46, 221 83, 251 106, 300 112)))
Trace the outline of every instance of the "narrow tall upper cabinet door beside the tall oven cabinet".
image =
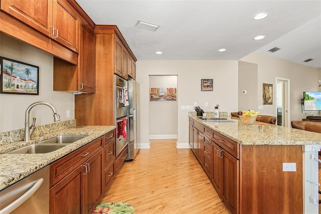
POLYGON ((80 91, 95 92, 95 35, 87 27, 81 27, 81 66, 79 69, 80 91))

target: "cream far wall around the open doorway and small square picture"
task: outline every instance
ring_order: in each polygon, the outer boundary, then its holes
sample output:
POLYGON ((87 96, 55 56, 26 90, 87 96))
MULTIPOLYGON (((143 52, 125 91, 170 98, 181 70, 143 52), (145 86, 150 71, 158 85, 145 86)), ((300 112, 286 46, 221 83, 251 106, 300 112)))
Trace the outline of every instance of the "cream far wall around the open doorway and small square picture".
POLYGON ((238 110, 237 60, 137 61, 142 144, 149 143, 149 75, 178 76, 178 147, 188 148, 188 113, 191 111, 181 110, 181 105, 194 105, 196 101, 205 112, 214 111, 216 104, 220 105, 220 111, 231 113, 238 110), (213 91, 201 91, 201 79, 213 79, 213 91))

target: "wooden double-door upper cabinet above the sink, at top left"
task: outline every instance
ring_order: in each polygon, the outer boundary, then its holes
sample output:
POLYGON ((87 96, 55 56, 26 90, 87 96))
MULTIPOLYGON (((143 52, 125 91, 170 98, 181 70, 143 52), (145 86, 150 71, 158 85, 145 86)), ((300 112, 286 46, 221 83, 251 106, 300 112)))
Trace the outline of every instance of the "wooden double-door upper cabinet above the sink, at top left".
POLYGON ((78 53, 80 23, 68 2, 2 0, 1 10, 78 53))

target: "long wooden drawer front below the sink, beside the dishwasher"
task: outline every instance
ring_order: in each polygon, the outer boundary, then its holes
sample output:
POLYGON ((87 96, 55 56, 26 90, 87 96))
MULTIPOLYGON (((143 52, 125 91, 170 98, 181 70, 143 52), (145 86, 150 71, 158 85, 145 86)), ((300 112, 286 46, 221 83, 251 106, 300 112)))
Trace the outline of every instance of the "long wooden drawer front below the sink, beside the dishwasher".
POLYGON ((102 149, 102 141, 100 137, 50 164, 50 187, 102 149))

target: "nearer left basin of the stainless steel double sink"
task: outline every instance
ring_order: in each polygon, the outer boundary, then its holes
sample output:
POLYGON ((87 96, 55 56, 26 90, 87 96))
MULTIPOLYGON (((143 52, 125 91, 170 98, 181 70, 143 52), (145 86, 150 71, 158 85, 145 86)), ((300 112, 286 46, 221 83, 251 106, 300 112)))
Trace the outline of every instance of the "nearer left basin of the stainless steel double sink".
POLYGON ((6 152, 6 154, 41 154, 56 151, 68 144, 31 144, 19 149, 6 152))

